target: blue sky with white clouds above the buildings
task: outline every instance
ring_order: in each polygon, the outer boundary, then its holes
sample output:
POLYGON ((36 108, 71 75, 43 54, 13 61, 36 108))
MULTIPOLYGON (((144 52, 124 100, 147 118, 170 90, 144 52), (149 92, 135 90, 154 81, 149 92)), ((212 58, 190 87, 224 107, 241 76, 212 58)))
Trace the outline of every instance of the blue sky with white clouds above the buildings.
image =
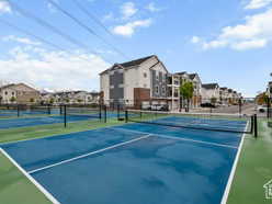
POLYGON ((99 90, 149 55, 243 97, 272 80, 272 0, 0 0, 0 81, 39 89, 99 90))

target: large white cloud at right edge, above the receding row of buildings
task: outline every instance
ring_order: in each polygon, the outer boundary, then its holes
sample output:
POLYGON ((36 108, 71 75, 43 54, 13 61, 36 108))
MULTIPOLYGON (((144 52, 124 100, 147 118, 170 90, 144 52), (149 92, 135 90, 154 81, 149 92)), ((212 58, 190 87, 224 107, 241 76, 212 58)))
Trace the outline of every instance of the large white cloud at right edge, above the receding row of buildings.
MULTIPOLYGON (((191 39, 192 41, 192 39, 191 39)), ((272 9, 245 19, 245 23, 223 27, 212 41, 197 38, 203 49, 229 47, 237 50, 262 48, 272 41, 272 9)))

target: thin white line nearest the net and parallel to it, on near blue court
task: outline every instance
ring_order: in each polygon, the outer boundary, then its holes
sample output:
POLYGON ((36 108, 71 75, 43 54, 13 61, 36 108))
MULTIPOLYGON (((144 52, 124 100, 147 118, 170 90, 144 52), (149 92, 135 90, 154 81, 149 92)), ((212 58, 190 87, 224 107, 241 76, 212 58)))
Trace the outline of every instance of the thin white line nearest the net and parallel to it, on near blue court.
MULTIPOLYGON (((150 134, 150 133, 146 133, 146 132, 141 132, 141 131, 133 131, 133 129, 126 129, 126 128, 118 128, 118 127, 117 128, 116 127, 112 127, 112 128, 113 129, 125 131, 125 132, 131 132, 131 133, 150 134)), ((202 140, 189 139, 189 138, 184 138, 184 137, 174 137, 174 136, 161 135, 161 134, 156 134, 156 133, 152 133, 150 135, 151 136, 161 137, 161 138, 193 141, 193 143, 200 143, 200 144, 205 144, 205 145, 213 145, 213 146, 218 146, 218 147, 227 147, 227 148, 231 148, 231 149, 237 149, 238 148, 238 147, 231 146, 231 145, 224 145, 224 144, 211 143, 211 141, 202 141, 202 140)))

